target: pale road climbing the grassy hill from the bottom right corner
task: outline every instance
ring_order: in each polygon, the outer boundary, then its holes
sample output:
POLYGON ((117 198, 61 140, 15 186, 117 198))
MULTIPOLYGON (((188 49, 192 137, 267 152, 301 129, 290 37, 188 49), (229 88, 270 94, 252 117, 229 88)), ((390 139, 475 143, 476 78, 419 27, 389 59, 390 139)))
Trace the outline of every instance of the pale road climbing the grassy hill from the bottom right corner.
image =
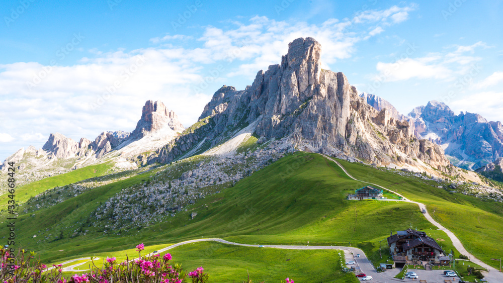
MULTIPOLYGON (((328 156, 326 155, 323 155, 323 154, 320 154, 321 156, 325 157, 326 159, 328 160, 331 160, 333 162, 335 162, 339 167, 341 167, 341 169, 343 169, 343 171, 352 179, 356 180, 356 181, 361 181, 361 182, 366 182, 366 181, 362 181, 362 180, 359 180, 355 177, 353 177, 348 171, 346 171, 346 168, 343 167, 343 165, 341 165, 341 163, 337 162, 337 160, 334 160, 332 158, 329 158, 328 156)), ((369 182, 366 182, 366 183, 369 183, 369 182)), ((378 185, 378 184, 374 184, 374 183, 369 183, 369 184, 372 184, 372 185, 375 185, 375 186, 378 186, 380 188, 382 188, 383 190, 386 190, 386 191, 389 191, 395 195, 398 195, 399 197, 401 197, 403 200, 403 202, 407 202, 407 203, 412 203, 412 204, 416 204, 419 206, 420 210, 423 211, 423 209, 426 210, 426 205, 422 204, 422 203, 418 203, 418 202, 413 202, 407 198, 405 198, 404 196, 394 192, 394 191, 391 191, 389 190, 388 188, 385 188, 381 185, 378 185)), ((389 200, 388 200, 389 201, 389 200)), ((488 264, 484 263, 483 261, 481 261, 480 259, 476 258, 475 256, 473 256, 473 254, 469 253, 465 247, 463 246, 463 244, 461 244, 461 241, 458 239, 458 237, 456 237, 456 235, 454 235, 454 233, 452 233, 449 229, 445 228, 444 226, 442 226, 440 223, 438 223, 437 221, 435 221, 435 219, 433 219, 433 217, 430 215, 430 213, 428 213, 428 210, 426 213, 424 213, 424 216, 426 217, 426 219, 428 221, 430 221, 433 225, 435 225, 436 227, 439 228, 439 230, 442 230, 444 231, 447 236, 449 236, 449 238, 451 239, 454 247, 462 254, 464 255, 467 255, 470 257, 470 260, 480 266, 483 266, 485 268, 487 268, 489 270, 489 272, 482 272, 484 273, 486 279, 492 283, 492 282, 497 282, 497 283, 501 283, 503 282, 503 273, 499 272, 497 269, 493 268, 492 266, 489 266, 488 264)))

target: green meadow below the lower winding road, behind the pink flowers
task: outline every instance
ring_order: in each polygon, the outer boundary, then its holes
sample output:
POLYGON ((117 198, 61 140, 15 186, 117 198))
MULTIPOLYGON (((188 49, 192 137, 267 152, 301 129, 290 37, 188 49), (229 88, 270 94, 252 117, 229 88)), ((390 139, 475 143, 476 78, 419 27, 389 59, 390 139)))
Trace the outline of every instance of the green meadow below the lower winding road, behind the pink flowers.
MULTIPOLYGON (((166 252, 173 255, 173 262, 182 263, 185 270, 203 266, 210 275, 210 282, 241 282, 246 279, 247 272, 254 282, 278 282, 286 277, 298 282, 358 282, 353 273, 342 272, 338 250, 287 250, 199 242, 166 252)), ((125 257, 120 258, 123 259, 125 257)), ((100 262, 96 261, 99 267, 102 266, 100 262)), ((79 266, 79 269, 88 268, 87 264, 79 266)))

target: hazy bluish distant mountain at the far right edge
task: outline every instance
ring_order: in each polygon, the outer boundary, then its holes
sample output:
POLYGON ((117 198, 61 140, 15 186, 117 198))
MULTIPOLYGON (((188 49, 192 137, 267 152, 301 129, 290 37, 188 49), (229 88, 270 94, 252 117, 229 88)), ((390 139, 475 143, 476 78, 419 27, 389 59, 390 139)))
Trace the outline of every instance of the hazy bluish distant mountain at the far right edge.
POLYGON ((502 156, 500 122, 487 122, 475 113, 455 115, 447 105, 437 101, 415 108, 409 116, 414 118, 416 132, 442 145, 455 165, 477 169, 502 156))

